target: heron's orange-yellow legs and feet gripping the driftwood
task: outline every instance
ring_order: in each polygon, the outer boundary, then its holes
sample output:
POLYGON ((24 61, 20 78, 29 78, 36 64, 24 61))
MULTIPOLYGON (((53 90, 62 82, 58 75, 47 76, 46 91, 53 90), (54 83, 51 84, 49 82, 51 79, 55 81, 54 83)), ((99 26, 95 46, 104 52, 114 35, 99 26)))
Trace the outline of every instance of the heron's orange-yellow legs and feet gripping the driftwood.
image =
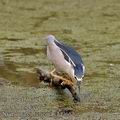
MULTIPOLYGON (((70 81, 70 80, 68 80, 68 79, 66 79, 66 78, 64 78, 64 77, 61 77, 61 76, 59 76, 59 75, 56 75, 56 74, 54 74, 54 72, 55 72, 55 69, 53 69, 52 71, 51 71, 51 76, 52 77, 54 77, 54 78, 57 78, 57 79, 60 79, 60 80, 62 80, 63 82, 61 83, 61 85, 62 86, 65 86, 65 85, 73 85, 73 82, 72 81, 70 81)), ((51 81, 52 82, 52 81, 51 81)))

